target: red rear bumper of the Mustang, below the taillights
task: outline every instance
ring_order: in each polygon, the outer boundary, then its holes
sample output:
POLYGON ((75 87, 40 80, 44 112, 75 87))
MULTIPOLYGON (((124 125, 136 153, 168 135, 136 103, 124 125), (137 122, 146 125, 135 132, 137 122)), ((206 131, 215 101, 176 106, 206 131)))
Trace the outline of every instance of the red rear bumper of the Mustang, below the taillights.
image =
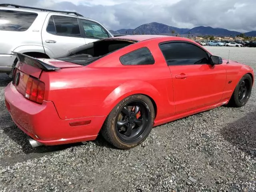
POLYGON ((12 83, 5 89, 6 107, 14 123, 27 135, 44 145, 58 145, 94 140, 106 116, 92 116, 79 119, 62 120, 53 102, 44 101, 42 105, 24 98, 12 83), (83 126, 70 126, 70 122, 91 120, 83 126))

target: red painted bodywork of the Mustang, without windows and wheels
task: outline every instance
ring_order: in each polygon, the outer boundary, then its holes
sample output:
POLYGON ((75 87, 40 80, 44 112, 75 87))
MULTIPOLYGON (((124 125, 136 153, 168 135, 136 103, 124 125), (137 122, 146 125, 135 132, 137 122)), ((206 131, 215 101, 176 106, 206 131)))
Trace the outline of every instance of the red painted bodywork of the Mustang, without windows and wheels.
POLYGON ((154 126, 157 126, 226 104, 240 78, 246 73, 254 76, 249 66, 234 61, 227 64, 226 60, 220 65, 167 66, 158 44, 190 41, 187 38, 147 35, 122 38, 140 42, 88 66, 43 59, 62 69, 42 72, 18 64, 20 84, 10 83, 5 90, 6 106, 17 126, 46 145, 94 140, 106 116, 127 96, 145 94, 154 100, 157 108, 154 126), (152 52, 155 64, 120 63, 120 56, 144 46, 152 52), (45 84, 42 104, 24 98, 28 75, 45 84), (228 84, 229 81, 232 83, 228 84), (80 126, 70 126, 74 122, 80 126))

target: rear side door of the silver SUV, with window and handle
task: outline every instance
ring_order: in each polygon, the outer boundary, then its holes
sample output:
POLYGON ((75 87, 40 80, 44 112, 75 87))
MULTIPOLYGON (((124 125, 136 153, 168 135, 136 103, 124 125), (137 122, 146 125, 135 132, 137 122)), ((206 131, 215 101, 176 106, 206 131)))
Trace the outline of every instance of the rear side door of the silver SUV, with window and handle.
POLYGON ((85 44, 80 31, 78 18, 67 16, 48 16, 42 29, 42 42, 45 52, 56 57, 68 50, 85 44))

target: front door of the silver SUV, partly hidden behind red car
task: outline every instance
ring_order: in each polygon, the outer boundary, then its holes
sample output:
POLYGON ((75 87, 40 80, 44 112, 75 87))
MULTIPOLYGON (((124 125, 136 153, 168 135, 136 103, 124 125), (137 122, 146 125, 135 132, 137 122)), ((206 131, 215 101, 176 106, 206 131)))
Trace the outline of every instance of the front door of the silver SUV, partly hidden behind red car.
POLYGON ((80 19, 80 21, 84 30, 83 33, 86 44, 111 37, 107 30, 100 24, 86 19, 80 19))

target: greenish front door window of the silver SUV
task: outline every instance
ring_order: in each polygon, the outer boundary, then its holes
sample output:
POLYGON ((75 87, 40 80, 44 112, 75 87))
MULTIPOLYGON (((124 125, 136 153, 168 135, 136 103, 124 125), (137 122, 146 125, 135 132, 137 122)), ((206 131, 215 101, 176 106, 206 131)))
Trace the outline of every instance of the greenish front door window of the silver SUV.
POLYGON ((108 32, 96 22, 81 19, 84 32, 88 38, 108 38, 108 32))

